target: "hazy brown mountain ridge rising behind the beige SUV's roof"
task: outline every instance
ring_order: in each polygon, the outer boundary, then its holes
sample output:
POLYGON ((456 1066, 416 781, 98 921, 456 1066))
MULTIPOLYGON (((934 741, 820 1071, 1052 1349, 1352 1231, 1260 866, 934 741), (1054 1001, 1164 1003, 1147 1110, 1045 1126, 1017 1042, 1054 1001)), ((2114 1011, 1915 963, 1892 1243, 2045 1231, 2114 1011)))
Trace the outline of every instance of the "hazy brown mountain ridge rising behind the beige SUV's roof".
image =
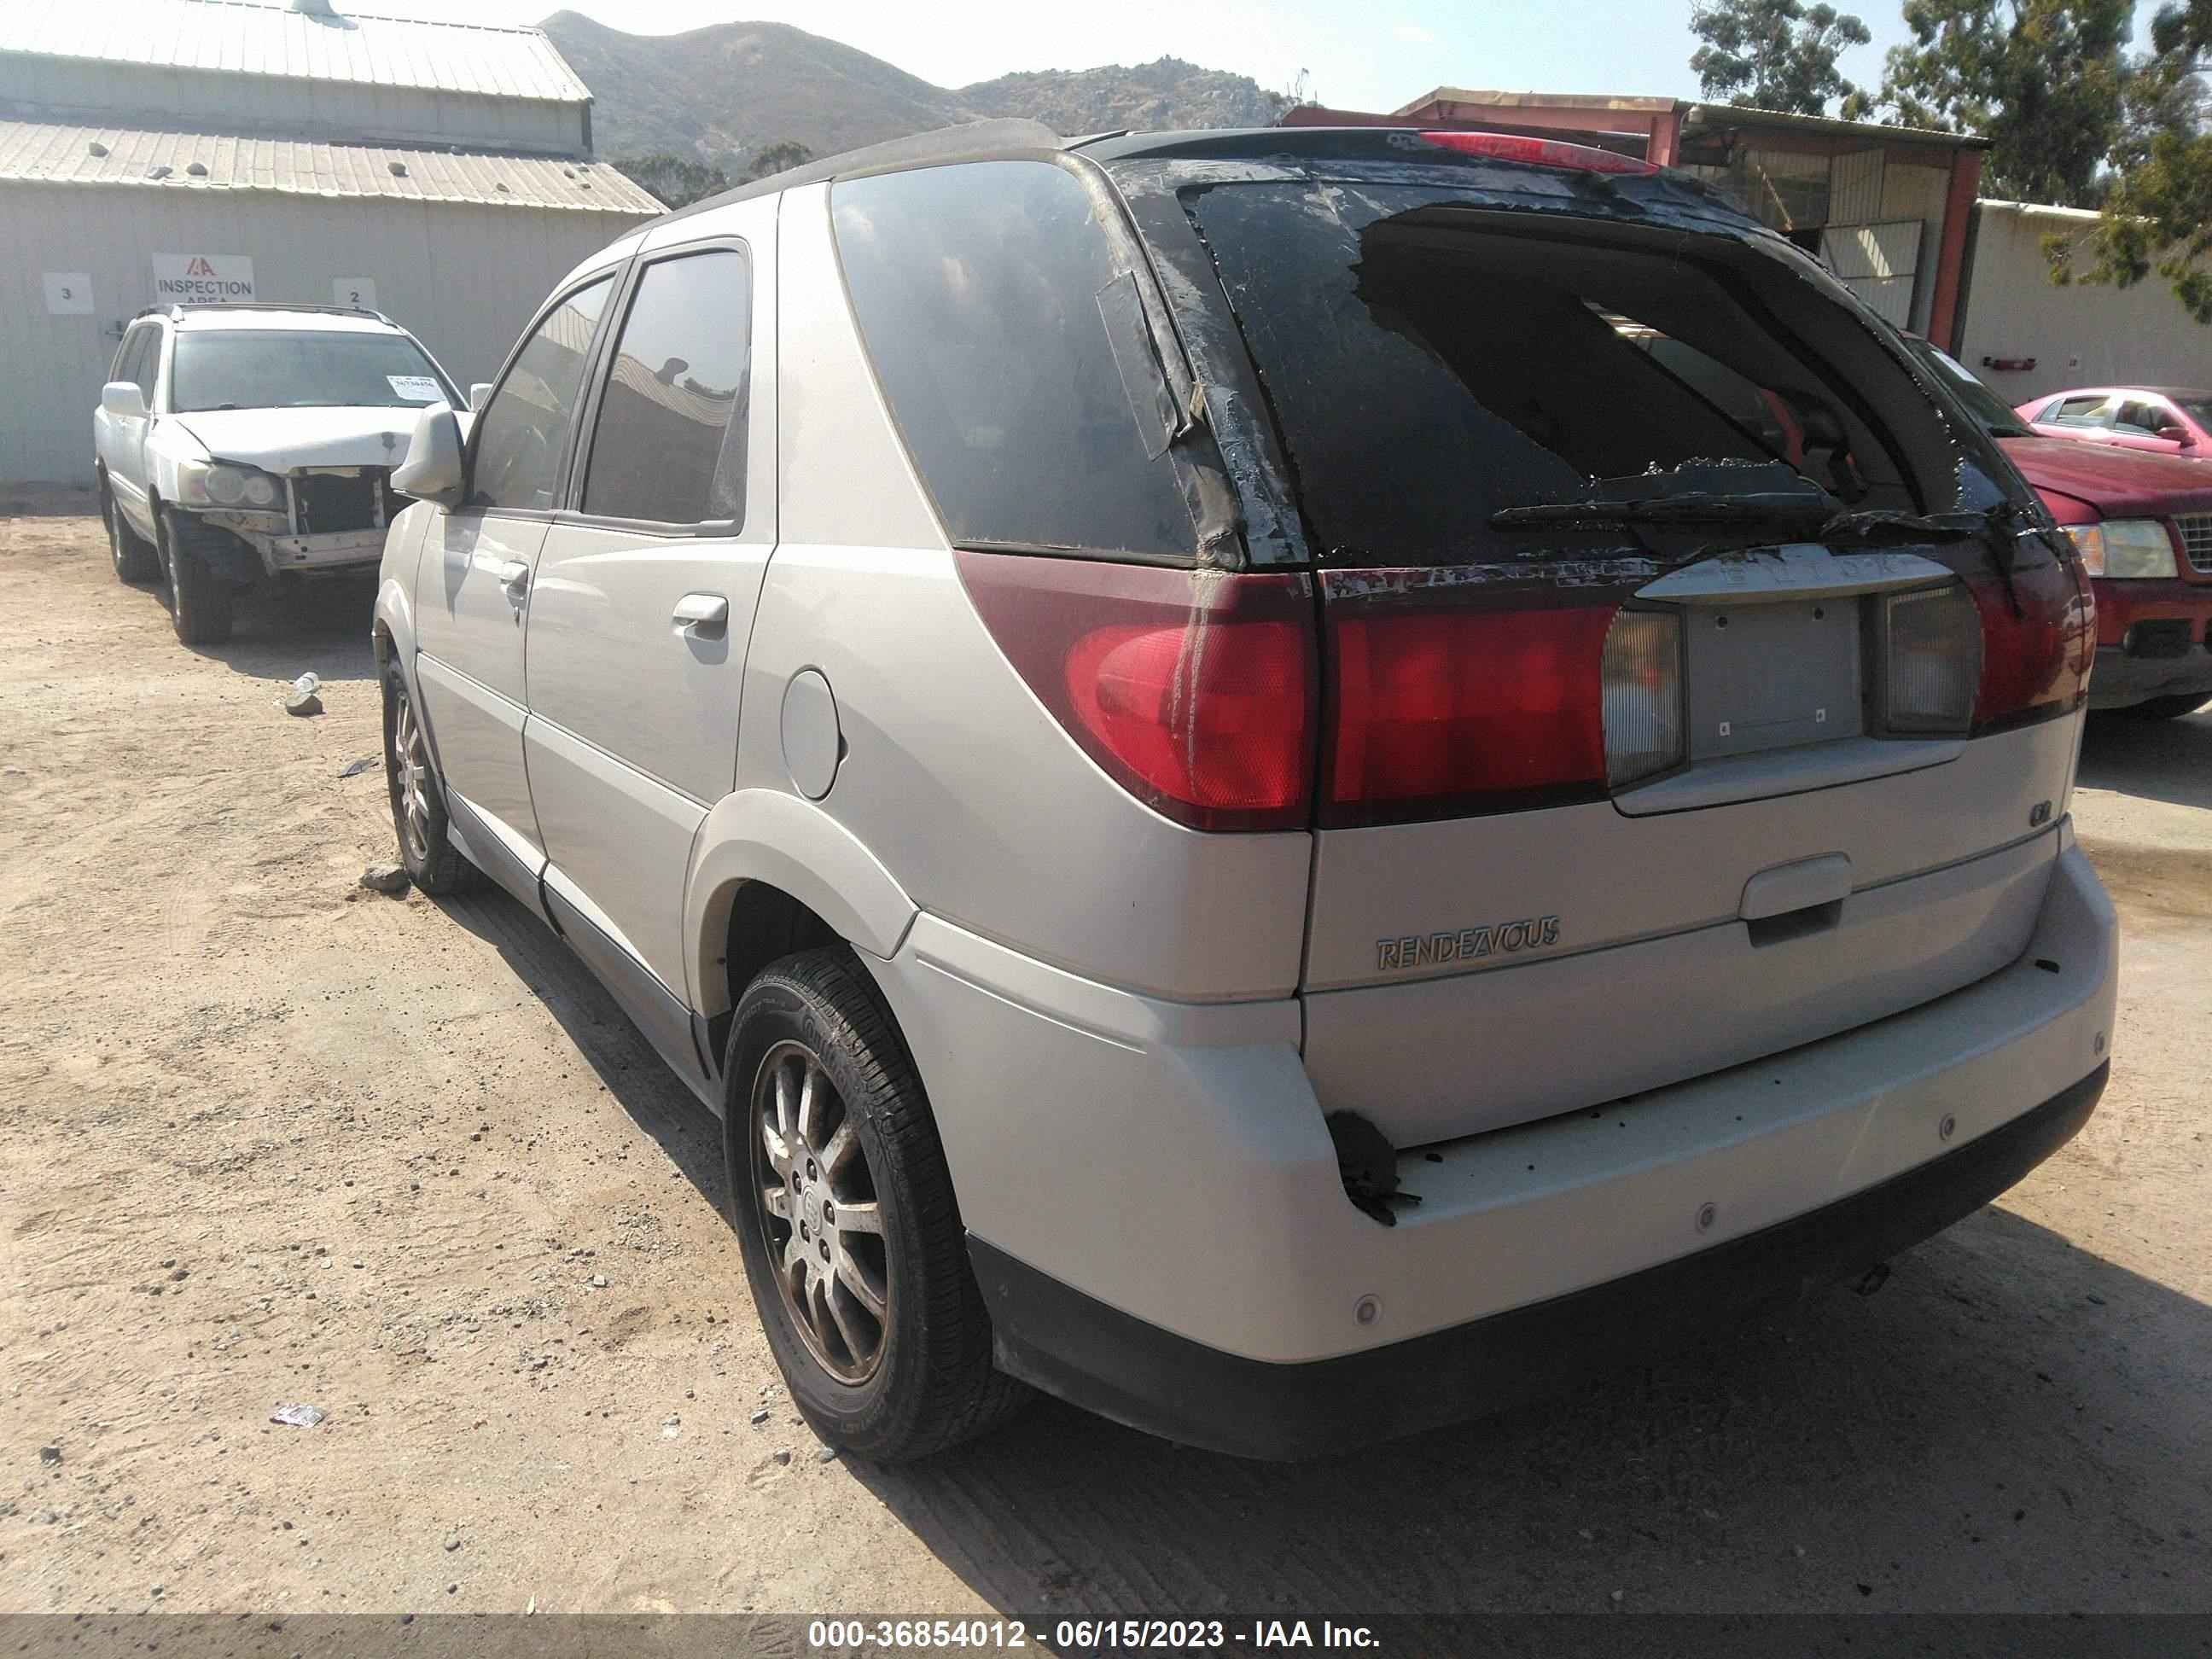
POLYGON ((697 157, 732 177, 754 150, 783 139, 832 155, 991 115, 1024 115, 1075 135, 1117 126, 1265 126, 1281 108, 1248 75, 1179 58, 947 88, 781 22, 633 35, 577 11, 555 11, 540 27, 591 86, 599 155, 697 157))

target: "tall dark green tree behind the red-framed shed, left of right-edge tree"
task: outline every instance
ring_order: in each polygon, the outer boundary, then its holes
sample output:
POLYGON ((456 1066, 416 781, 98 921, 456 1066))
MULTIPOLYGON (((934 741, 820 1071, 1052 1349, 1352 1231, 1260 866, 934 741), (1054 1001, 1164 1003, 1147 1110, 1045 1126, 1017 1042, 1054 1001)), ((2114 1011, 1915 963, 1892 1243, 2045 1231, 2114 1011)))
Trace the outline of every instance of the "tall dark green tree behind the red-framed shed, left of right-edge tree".
POLYGON ((2132 15, 2135 0, 1905 0, 1913 44, 1889 49, 1876 102, 1984 135, 1986 195, 2093 206, 2124 133, 2132 15))

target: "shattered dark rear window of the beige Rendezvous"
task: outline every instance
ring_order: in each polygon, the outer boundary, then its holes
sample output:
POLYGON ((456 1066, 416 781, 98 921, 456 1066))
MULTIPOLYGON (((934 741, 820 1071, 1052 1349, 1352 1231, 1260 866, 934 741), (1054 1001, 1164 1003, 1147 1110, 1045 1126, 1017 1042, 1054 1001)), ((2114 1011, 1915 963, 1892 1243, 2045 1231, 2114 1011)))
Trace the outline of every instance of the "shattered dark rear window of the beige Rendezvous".
MULTIPOLYGON (((1856 316, 1778 268, 1754 283, 1681 234, 1500 226, 1420 186, 1230 184, 1186 206, 1325 562, 1533 557, 1531 526, 1493 515, 1590 500, 1949 504, 1955 451, 1936 445, 1909 478, 1874 405, 1905 409, 1924 451, 1940 416, 1856 316)), ((1593 538, 1641 540, 1542 540, 1593 538)))

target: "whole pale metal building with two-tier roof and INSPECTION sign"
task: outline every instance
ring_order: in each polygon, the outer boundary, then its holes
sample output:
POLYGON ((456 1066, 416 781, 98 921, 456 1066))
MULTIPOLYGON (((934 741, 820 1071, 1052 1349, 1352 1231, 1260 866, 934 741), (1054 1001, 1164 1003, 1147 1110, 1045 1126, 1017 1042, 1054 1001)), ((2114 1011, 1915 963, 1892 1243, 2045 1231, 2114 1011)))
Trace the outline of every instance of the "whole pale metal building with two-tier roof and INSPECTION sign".
POLYGON ((124 323, 159 301, 367 305, 462 383, 659 204, 591 159, 538 29, 327 0, 0 4, 0 484, 91 480, 124 323))

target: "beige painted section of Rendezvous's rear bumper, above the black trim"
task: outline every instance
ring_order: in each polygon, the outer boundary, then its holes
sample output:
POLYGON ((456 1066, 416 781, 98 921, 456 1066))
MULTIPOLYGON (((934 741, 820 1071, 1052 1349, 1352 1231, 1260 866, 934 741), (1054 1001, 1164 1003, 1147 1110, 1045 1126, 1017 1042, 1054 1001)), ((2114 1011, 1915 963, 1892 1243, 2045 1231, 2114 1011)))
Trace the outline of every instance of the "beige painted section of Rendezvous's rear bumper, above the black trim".
MULTIPOLYGON (((1267 1378, 1418 1354, 1411 1343, 1708 1256, 1949 1161, 2106 1062, 2112 907, 2070 825, 2053 854, 2026 949, 2008 967, 1632 1099, 1400 1148, 1400 1190, 1420 1203, 1398 1208, 1396 1225, 1345 1197, 1298 1057, 1296 1002, 1139 998, 927 911, 896 958, 869 967, 929 1088, 978 1267, 1002 1294, 1009 1367, 1115 1416, 1230 1444, 1150 1416, 1172 1416, 1172 1376, 1166 1405, 1148 1402, 1144 1369, 1117 1374, 1088 1358, 1088 1338, 1053 1336, 1082 1321, 1024 1305, 1113 1310, 1186 1345, 1168 1343, 1177 1354, 1210 1352, 1206 1365, 1267 1378), (1102 1380, 1086 1387, 1084 1376, 1102 1380)), ((1593 1026, 1579 1040, 1610 1035, 1593 1026)), ((1469 1077, 1471 1091, 1486 1084, 1469 1077)), ((1975 1164, 1955 1168, 1955 1188, 1953 1177, 1929 1179, 1964 1208, 2004 1186, 1982 1190, 1969 1179, 1975 1164)), ((1840 1210, 1836 1225, 1856 1217, 1840 1210)), ((1840 1254, 1876 1261, 1905 1232, 1871 1232, 1840 1254)), ((1520 1363, 1540 1367, 1528 1354, 1520 1363)), ((1387 1376, 1396 1363, 1378 1365, 1387 1376)), ((1442 1420, 1495 1398, 1493 1385, 1478 1374, 1440 1416, 1413 1398, 1378 1422, 1442 1420)), ((1422 1387, 1418 1371, 1402 1383, 1409 1396, 1422 1387)), ((1292 1433, 1283 1449, 1303 1444, 1292 1433)))

